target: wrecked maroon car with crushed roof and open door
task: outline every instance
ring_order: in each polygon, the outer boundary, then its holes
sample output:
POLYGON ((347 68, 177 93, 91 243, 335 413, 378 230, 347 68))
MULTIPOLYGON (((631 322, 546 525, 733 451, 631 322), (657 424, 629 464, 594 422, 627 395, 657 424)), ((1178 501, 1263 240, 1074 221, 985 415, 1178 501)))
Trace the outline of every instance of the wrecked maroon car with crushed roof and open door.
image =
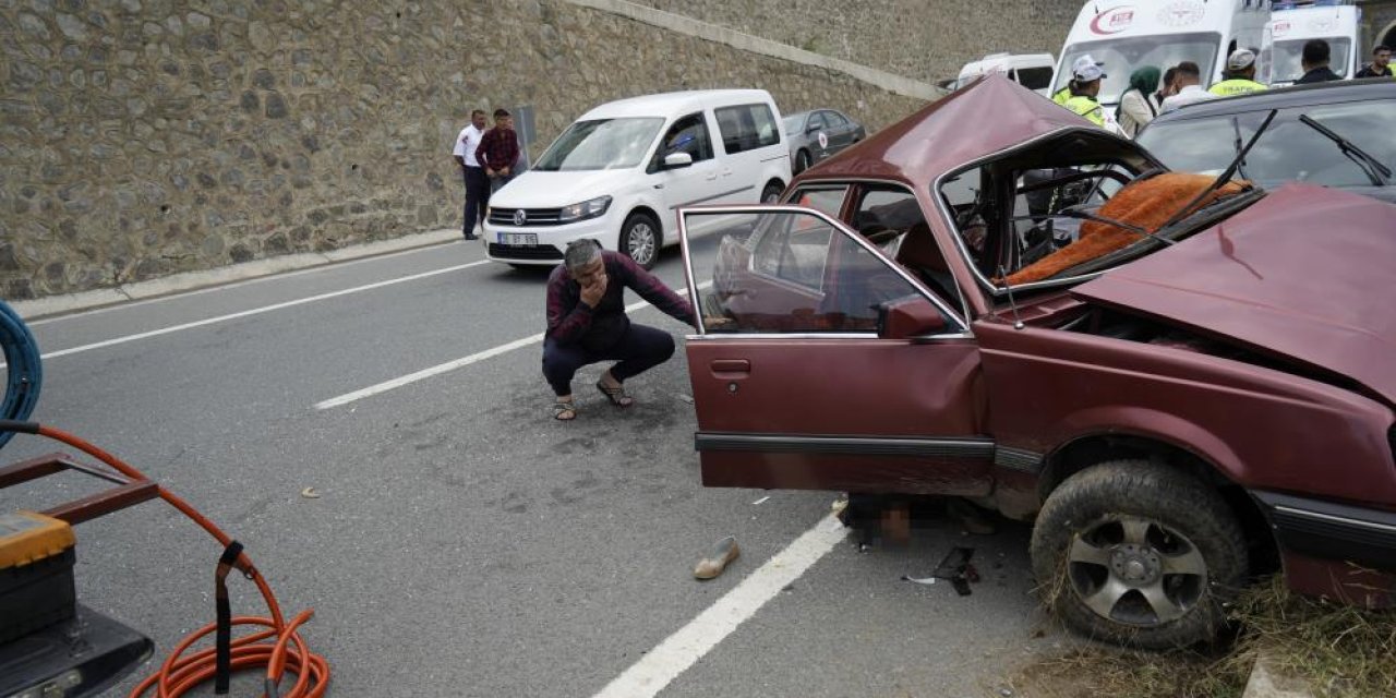
POLYGON ((1046 602, 1138 646, 1266 567, 1396 603, 1396 207, 1170 173, 998 77, 783 201, 680 212, 704 484, 1034 521, 1046 602))

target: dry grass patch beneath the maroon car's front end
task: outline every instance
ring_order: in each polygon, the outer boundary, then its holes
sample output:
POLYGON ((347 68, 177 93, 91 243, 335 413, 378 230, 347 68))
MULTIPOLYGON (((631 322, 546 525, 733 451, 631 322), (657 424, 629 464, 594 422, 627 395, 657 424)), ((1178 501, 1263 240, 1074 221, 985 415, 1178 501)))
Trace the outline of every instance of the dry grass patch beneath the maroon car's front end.
POLYGON ((1089 646, 1040 659, 1011 681, 1016 697, 1240 698, 1263 655, 1323 698, 1396 695, 1396 610, 1362 610, 1291 593, 1282 577, 1241 593, 1234 639, 1210 649, 1089 646))

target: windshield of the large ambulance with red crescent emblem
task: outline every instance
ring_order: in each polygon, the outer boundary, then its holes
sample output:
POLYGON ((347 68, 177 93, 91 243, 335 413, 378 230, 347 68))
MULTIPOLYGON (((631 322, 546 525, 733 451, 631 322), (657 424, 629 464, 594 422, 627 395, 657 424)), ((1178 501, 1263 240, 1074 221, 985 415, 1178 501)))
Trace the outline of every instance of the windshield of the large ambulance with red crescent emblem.
POLYGON ((1208 81, 1220 46, 1222 35, 1216 32, 1128 36, 1072 43, 1062 52, 1062 70, 1058 71, 1053 94, 1067 87, 1071 80, 1071 64, 1087 53, 1096 61, 1104 63, 1101 70, 1106 71, 1106 80, 1101 81, 1100 95, 1096 98, 1103 105, 1120 103, 1120 94, 1129 87, 1129 74, 1145 66, 1153 66, 1161 74, 1178 63, 1191 60, 1198 64, 1202 80, 1208 81))

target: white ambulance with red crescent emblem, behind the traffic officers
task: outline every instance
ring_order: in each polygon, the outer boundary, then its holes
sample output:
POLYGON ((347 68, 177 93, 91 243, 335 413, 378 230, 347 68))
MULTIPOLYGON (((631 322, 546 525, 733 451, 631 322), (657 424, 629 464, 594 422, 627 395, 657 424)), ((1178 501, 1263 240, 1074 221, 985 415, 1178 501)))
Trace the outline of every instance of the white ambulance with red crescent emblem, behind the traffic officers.
POLYGON ((1145 66, 1164 73, 1191 60, 1209 87, 1222 80, 1233 50, 1261 47, 1269 18, 1269 0, 1087 0, 1067 35, 1053 94, 1087 53, 1104 64, 1099 101, 1106 106, 1120 103, 1129 74, 1145 66))

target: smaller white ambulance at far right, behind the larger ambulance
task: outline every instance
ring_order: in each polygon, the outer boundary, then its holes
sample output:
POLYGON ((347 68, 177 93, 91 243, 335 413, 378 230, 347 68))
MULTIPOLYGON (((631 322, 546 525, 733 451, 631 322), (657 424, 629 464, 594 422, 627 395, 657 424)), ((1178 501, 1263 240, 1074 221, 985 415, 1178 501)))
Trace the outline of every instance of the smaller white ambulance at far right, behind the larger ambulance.
POLYGON ((1304 77, 1300 59, 1309 39, 1328 42, 1328 68, 1342 78, 1361 70, 1358 28, 1362 8, 1333 3, 1275 3, 1265 24, 1255 80, 1272 87, 1293 85, 1304 77))

